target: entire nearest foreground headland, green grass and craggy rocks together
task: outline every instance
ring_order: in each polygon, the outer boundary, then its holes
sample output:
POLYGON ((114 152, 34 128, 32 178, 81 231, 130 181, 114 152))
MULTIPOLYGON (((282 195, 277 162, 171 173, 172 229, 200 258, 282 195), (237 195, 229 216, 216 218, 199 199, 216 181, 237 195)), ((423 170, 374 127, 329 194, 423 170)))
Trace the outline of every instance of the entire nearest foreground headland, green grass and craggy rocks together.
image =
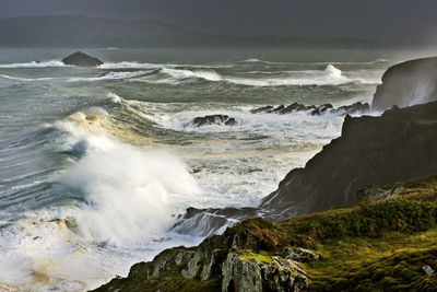
POLYGON ((437 176, 382 189, 398 191, 277 223, 243 221, 197 247, 166 249, 95 291, 437 288, 437 249, 432 244, 437 236, 437 176))

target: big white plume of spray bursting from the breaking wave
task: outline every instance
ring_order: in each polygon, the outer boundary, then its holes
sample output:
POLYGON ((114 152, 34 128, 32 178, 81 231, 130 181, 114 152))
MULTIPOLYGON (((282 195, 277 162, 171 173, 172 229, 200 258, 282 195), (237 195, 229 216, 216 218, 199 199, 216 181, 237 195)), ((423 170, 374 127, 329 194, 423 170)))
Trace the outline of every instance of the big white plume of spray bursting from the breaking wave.
POLYGON ((87 238, 121 244, 162 236, 174 223, 172 215, 184 210, 178 207, 199 194, 173 154, 137 149, 72 122, 62 125, 75 139, 72 148, 85 151, 58 182, 83 195, 86 206, 75 221, 87 238))

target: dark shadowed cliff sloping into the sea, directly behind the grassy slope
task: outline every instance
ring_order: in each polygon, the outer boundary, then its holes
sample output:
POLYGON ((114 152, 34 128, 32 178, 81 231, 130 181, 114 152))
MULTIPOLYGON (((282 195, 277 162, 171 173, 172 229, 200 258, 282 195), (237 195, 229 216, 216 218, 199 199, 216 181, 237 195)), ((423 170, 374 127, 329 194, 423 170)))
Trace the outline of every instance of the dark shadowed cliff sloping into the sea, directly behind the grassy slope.
POLYGON ((437 102, 387 110, 381 117, 346 116, 342 136, 305 168, 291 171, 261 209, 277 221, 352 205, 356 191, 437 173, 437 102))

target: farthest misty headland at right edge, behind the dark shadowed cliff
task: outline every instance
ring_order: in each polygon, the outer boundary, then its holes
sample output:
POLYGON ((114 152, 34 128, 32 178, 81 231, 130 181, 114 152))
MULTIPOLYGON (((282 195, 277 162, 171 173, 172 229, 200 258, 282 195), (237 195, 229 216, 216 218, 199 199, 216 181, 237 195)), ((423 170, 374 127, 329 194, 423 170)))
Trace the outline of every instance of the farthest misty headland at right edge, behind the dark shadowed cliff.
POLYGON ((436 84, 437 57, 398 63, 383 73, 371 109, 382 112, 393 105, 406 107, 436 101, 436 84))

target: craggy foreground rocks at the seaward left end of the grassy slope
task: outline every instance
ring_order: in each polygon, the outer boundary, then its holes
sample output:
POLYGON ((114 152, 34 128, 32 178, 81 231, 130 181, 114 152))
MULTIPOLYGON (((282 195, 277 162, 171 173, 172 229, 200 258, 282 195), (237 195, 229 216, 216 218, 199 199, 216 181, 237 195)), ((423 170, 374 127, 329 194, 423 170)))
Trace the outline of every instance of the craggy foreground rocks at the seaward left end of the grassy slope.
MULTIPOLYGON (((253 222, 270 224, 260 219, 253 222)), ((126 279, 116 278, 95 291, 181 289, 262 292, 307 289, 310 276, 305 272, 300 262, 287 259, 281 253, 272 256, 257 254, 262 244, 252 232, 248 229, 244 229, 241 233, 227 231, 223 235, 213 235, 204 240, 193 248, 166 249, 153 261, 132 266, 126 279)))

